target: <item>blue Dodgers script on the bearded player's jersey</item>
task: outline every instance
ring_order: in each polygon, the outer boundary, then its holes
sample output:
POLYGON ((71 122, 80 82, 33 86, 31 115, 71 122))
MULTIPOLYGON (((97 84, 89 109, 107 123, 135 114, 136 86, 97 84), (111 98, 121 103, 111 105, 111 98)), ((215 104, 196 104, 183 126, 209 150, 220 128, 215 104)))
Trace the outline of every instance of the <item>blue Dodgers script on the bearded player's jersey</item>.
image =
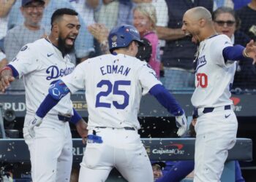
POLYGON ((66 76, 68 74, 71 74, 71 72, 74 70, 74 67, 71 68, 65 68, 65 69, 59 69, 57 66, 50 66, 46 69, 46 74, 50 74, 50 76, 47 76, 46 79, 57 79, 59 76, 66 76))

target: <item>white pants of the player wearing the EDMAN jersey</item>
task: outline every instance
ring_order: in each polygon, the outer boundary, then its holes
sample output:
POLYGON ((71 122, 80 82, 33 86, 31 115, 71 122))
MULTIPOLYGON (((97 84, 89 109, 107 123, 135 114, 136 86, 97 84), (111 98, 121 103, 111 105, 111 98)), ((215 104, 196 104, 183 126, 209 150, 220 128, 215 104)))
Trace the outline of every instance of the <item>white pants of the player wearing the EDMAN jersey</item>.
MULTIPOLYGON (((151 162, 137 130, 95 128, 103 143, 87 143, 79 182, 106 181, 113 167, 131 182, 153 182, 151 162)), ((89 130, 89 134, 92 130, 89 130)))

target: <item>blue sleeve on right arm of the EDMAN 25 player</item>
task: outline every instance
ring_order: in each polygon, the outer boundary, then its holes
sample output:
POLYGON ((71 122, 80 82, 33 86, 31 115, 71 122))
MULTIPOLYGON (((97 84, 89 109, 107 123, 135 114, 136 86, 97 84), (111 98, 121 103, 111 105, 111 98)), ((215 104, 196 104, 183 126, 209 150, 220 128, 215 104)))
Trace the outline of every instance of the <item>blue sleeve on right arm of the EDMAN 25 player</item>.
POLYGON ((162 84, 156 84, 151 88, 151 90, 149 90, 149 93, 154 95, 159 103, 167 108, 167 111, 169 111, 170 114, 173 114, 174 116, 181 116, 184 114, 184 111, 176 99, 170 94, 170 92, 168 92, 168 90, 165 89, 165 87, 162 86, 162 84))

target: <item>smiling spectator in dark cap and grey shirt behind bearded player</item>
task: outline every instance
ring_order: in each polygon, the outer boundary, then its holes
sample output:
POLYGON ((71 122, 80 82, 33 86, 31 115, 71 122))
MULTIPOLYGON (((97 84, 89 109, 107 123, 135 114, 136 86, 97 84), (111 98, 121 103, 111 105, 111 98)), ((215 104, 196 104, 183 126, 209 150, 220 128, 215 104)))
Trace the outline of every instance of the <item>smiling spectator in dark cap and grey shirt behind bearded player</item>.
MULTIPOLYGON (((45 1, 43 0, 22 1, 20 11, 24 17, 24 22, 8 31, 4 39, 8 63, 12 59, 15 60, 15 55, 18 54, 23 45, 36 41, 45 35, 45 28, 40 25, 44 5, 45 1)), ((10 90, 25 90, 23 79, 13 82, 10 90)))

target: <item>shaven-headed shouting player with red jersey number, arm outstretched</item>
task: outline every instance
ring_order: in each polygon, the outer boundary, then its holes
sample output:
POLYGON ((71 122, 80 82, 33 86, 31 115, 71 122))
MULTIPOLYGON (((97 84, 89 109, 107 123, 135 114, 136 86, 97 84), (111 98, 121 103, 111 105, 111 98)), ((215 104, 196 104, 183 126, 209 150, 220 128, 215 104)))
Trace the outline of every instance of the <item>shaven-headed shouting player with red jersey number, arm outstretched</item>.
POLYGON ((195 179, 219 181, 227 159, 227 150, 236 143, 237 119, 230 100, 236 71, 235 60, 249 57, 256 61, 256 46, 233 46, 226 35, 214 30, 211 13, 204 7, 185 12, 182 30, 199 44, 195 59, 195 92, 192 105, 195 124, 195 179))

